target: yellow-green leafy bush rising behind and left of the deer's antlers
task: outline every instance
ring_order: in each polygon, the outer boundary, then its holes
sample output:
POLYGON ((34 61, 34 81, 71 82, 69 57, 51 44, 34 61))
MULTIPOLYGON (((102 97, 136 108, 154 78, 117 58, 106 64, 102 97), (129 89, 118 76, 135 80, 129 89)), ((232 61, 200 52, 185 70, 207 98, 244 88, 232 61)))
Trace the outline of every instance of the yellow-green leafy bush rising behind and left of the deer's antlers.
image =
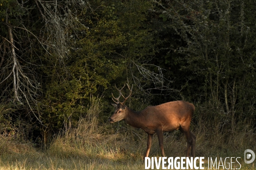
MULTIPOLYGON (((85 116, 91 98, 104 92, 108 96, 102 102, 109 103, 113 92, 109 86, 123 84, 130 77, 130 63, 153 55, 153 38, 145 23, 149 6, 143 1, 110 1, 100 4, 99 12, 87 11, 80 16, 88 29, 85 35, 78 36, 80 40, 71 50, 71 57, 65 60, 68 73, 55 58, 42 68, 46 75, 40 106, 44 125, 56 130, 63 121, 76 124, 80 116, 85 116)), ((104 116, 104 112, 100 115, 104 116)))

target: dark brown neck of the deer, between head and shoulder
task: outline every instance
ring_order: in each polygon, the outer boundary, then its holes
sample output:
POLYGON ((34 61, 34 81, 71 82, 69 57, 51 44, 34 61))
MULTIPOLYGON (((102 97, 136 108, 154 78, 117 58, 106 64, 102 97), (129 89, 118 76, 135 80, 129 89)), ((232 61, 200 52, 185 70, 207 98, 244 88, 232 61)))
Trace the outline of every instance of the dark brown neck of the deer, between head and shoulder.
POLYGON ((137 127, 137 128, 142 128, 142 120, 143 120, 143 115, 141 112, 134 111, 130 108, 127 107, 128 114, 125 117, 124 121, 131 125, 132 127, 137 127))

